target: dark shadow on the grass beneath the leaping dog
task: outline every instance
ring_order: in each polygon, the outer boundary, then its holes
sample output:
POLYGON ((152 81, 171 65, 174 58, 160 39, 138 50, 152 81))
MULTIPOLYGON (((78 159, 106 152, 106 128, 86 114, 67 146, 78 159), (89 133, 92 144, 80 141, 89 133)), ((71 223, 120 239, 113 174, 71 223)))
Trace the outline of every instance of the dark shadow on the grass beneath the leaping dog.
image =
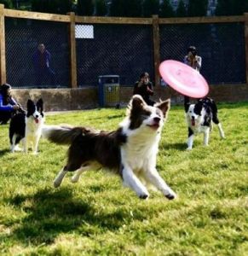
MULTIPOLYGON (((132 221, 130 212, 119 208, 115 212, 107 212, 102 207, 96 209, 91 201, 93 199, 74 198, 72 189, 66 188, 43 189, 35 195, 16 195, 7 202, 26 212, 26 218, 10 221, 13 226, 18 226, 13 230, 12 238, 36 246, 53 243, 61 233, 72 230, 80 236, 93 236, 118 230, 132 221)), ((136 218, 146 217, 138 214, 136 218)))

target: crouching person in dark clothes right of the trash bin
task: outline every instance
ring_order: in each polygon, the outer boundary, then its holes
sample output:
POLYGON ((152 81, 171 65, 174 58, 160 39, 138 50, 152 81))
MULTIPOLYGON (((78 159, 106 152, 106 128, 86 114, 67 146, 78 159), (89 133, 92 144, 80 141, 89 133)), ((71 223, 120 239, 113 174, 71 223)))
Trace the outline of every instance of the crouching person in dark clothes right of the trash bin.
POLYGON ((150 99, 153 96, 153 83, 149 79, 149 74, 147 72, 141 73, 140 79, 136 81, 133 94, 138 94, 142 96, 147 105, 153 106, 155 102, 150 99))

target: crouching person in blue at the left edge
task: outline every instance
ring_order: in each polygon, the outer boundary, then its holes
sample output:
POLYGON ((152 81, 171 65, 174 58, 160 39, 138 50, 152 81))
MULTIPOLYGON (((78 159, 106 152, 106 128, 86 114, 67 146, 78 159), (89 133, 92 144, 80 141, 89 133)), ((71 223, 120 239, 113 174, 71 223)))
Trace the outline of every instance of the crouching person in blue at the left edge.
POLYGON ((21 109, 20 104, 11 96, 10 84, 2 84, 0 86, 0 124, 7 124, 12 114, 19 109, 21 109))

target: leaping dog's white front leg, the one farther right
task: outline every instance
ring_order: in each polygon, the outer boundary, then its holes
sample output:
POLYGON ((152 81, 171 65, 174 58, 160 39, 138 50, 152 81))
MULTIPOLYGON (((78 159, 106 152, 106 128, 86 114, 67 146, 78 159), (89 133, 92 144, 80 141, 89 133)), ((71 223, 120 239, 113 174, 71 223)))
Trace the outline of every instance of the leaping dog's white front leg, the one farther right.
POLYGON ((162 191, 163 195, 169 200, 176 198, 176 193, 164 182, 164 179, 160 177, 159 172, 155 168, 145 171, 144 177, 149 183, 162 191))

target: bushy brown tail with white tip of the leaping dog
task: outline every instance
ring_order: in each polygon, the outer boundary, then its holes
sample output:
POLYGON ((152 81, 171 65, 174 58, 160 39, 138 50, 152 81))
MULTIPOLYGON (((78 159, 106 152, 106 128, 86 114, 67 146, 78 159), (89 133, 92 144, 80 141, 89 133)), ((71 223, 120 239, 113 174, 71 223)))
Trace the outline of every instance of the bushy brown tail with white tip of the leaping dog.
POLYGON ((42 130, 42 136, 56 144, 71 144, 82 133, 84 131, 80 127, 64 125, 44 125, 42 130))

